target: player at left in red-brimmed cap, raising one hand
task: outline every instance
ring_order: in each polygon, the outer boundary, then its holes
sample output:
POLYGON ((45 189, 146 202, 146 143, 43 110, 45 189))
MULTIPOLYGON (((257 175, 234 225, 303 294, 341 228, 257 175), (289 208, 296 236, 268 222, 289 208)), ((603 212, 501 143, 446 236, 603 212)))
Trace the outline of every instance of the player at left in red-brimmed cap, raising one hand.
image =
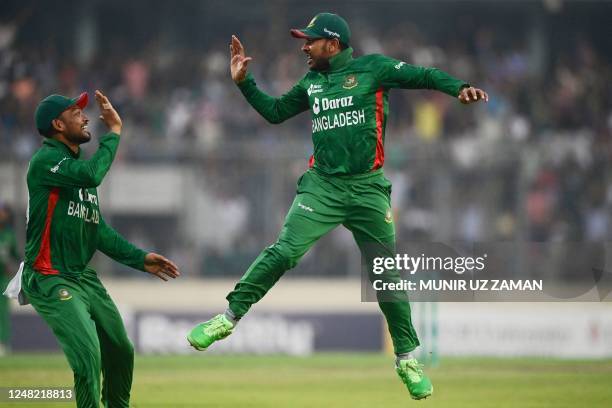
MULTIPOLYGON (((45 137, 27 173, 28 220, 25 260, 17 285, 46 321, 74 372, 77 407, 128 407, 134 347, 117 307, 87 264, 100 250, 117 262, 164 281, 179 275, 174 263, 125 240, 100 214, 98 187, 110 169, 121 139, 121 118, 100 91, 100 119, 109 132, 87 160, 79 146, 91 139, 83 113, 87 93, 51 95, 36 108, 45 137)), ((9 285, 10 286, 10 285, 9 285)), ((14 294, 13 287, 13 294, 14 294)), ((23 299, 23 296, 21 296, 23 299)))

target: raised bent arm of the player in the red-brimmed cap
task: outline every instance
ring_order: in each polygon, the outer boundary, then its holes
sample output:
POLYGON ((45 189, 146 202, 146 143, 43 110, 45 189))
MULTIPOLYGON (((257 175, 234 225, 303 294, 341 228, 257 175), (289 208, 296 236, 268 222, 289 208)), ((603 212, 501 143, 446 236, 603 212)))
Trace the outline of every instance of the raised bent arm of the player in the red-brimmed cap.
POLYGON ((96 91, 100 119, 110 132, 100 138, 96 153, 89 160, 78 160, 67 152, 50 149, 30 165, 42 185, 49 187, 97 187, 110 169, 121 133, 121 117, 104 94, 96 91))

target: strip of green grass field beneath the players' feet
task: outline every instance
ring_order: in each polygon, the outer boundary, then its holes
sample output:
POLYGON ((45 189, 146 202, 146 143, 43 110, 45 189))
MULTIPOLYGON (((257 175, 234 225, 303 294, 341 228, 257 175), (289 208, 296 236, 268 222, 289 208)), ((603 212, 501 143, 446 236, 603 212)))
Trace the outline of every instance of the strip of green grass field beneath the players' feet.
MULTIPOLYGON (((381 354, 137 356, 132 403, 135 408, 612 406, 612 360, 445 359, 427 372, 434 395, 413 401, 392 358, 381 354)), ((63 356, 0 358, 0 387, 53 385, 72 385, 63 356)), ((29 405, 0 403, 10 406, 29 405)))

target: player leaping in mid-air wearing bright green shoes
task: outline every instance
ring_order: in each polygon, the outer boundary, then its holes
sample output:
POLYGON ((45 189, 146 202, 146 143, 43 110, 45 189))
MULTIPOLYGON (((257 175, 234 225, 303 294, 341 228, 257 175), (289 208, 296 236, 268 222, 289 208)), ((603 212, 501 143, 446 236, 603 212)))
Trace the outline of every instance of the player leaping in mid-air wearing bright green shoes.
MULTIPOLYGON (((306 28, 291 30, 304 39, 310 70, 280 98, 262 92, 247 65, 251 57, 232 37, 231 75, 246 100, 270 123, 311 111, 314 154, 299 179, 297 195, 275 244, 255 259, 227 296, 224 314, 200 323, 187 336, 205 350, 232 333, 237 322, 276 281, 293 268, 323 235, 342 224, 352 233, 364 259, 395 256, 391 183, 383 174, 388 95, 393 88, 434 89, 469 104, 488 100, 486 92, 435 68, 407 64, 383 55, 353 58, 351 32, 336 14, 320 13, 306 28)), ((405 295, 405 294, 404 294, 405 295)), ((412 398, 433 392, 412 355, 419 340, 407 296, 379 305, 393 340, 396 371, 412 398)))

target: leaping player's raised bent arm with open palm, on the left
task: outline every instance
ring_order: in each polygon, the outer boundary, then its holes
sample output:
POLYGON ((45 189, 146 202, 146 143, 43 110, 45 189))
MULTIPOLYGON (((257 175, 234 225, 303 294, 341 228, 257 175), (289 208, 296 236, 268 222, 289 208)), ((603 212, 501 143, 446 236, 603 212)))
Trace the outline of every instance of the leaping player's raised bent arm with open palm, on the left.
POLYGON ((262 92, 253 76, 247 72, 248 63, 252 58, 245 56, 244 47, 236 36, 232 36, 230 56, 232 79, 247 102, 268 122, 281 123, 309 109, 306 89, 301 82, 279 98, 262 92))

